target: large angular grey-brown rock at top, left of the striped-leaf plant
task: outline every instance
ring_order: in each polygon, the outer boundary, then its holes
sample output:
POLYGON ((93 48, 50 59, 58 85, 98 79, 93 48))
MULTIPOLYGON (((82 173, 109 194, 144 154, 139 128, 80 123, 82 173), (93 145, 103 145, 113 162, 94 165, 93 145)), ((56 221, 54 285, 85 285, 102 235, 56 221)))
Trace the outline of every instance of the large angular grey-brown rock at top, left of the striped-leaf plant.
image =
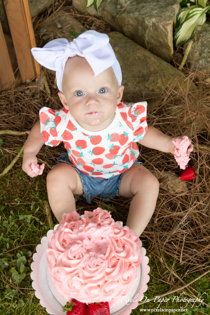
MULTIPOLYGON (((73 5, 87 13, 83 9, 85 0, 73 0, 73 5)), ((173 26, 178 11, 179 0, 103 0, 99 8, 102 19, 116 31, 165 61, 173 55, 173 26)))

